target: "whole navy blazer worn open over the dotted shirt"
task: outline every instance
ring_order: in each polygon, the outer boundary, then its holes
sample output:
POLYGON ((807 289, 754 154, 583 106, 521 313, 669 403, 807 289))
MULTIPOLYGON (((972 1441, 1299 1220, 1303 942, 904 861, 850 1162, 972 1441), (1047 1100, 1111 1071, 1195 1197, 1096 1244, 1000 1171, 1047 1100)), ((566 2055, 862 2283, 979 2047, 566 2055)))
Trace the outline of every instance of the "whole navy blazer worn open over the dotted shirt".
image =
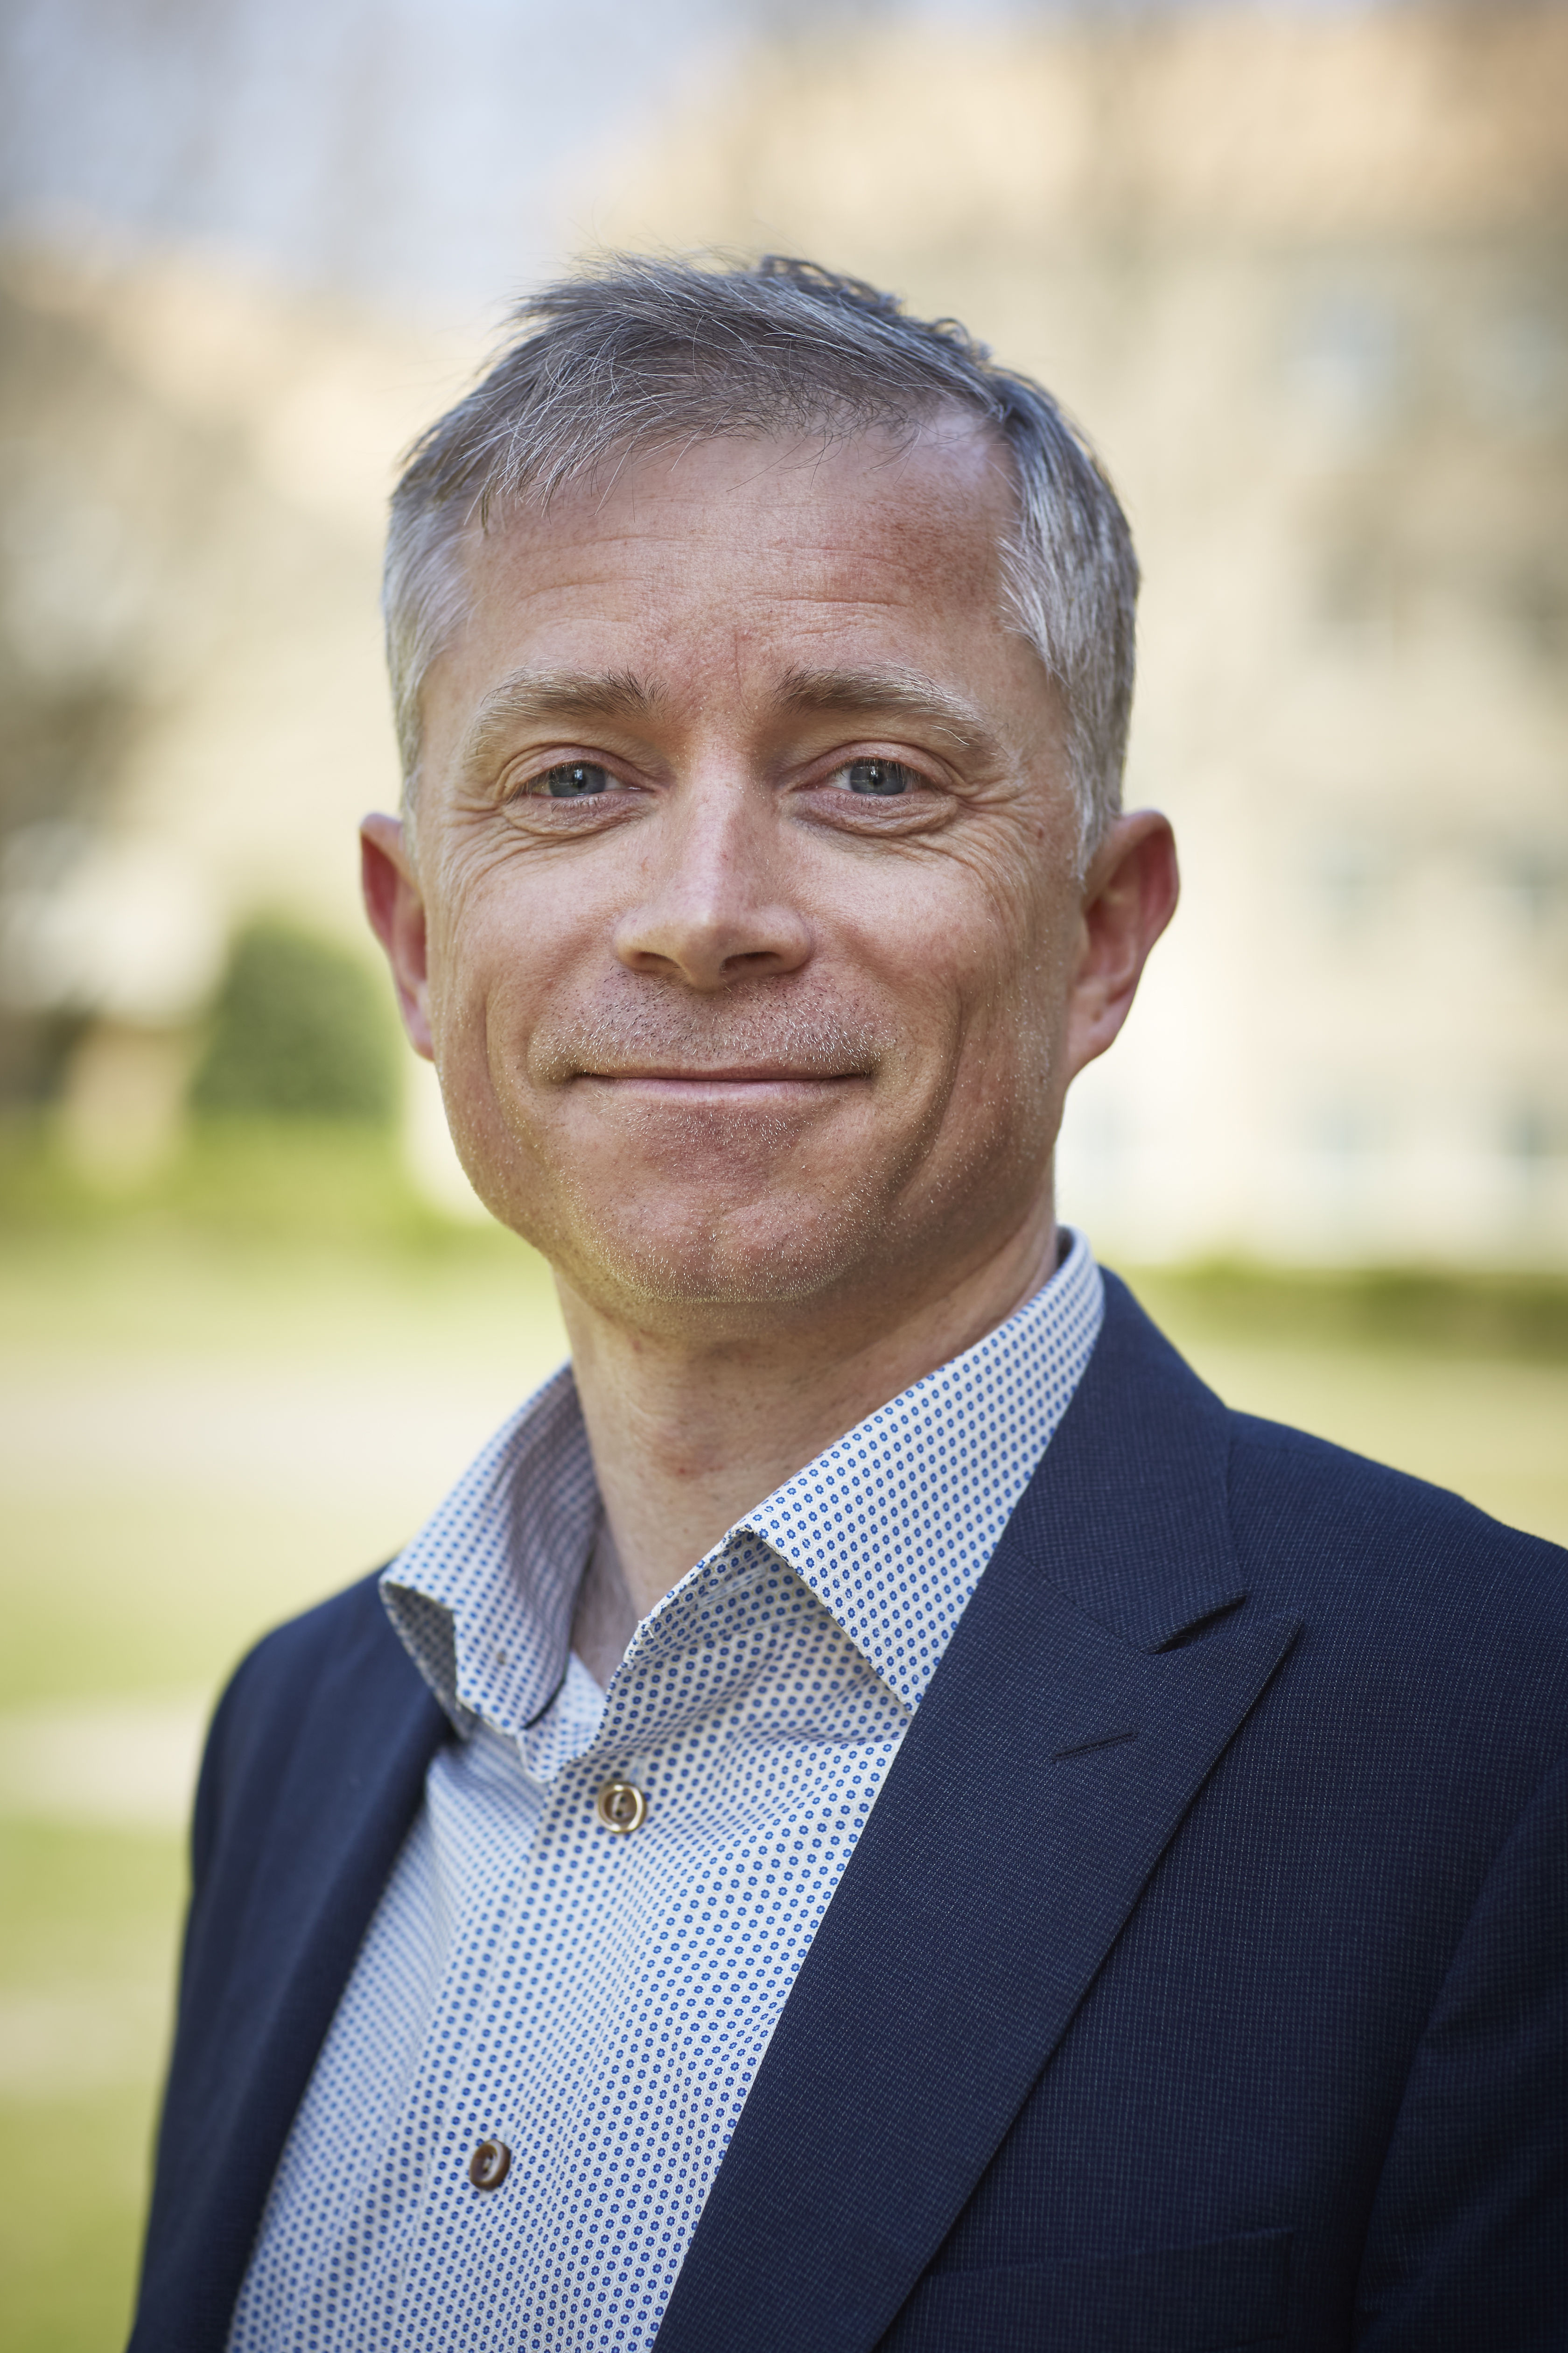
MULTIPOLYGON (((1568 2346, 1568 1555, 1107 1292, 658 2353, 1568 2346)), ((228 1687, 134 2353, 221 2353, 447 1737, 374 1579, 228 1687)))

